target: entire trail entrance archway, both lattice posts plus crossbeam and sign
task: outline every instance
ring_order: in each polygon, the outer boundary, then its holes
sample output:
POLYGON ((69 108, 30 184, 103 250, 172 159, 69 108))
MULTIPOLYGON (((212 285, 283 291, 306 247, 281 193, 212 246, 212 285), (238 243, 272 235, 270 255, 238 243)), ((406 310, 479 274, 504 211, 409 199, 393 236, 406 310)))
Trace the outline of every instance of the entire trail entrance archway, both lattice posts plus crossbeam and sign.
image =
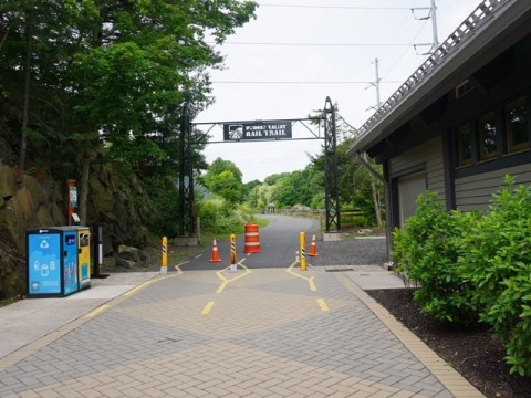
POLYGON ((208 144, 230 142, 262 140, 300 140, 324 139, 324 191, 325 191, 325 232, 341 232, 340 191, 337 185, 337 139, 335 128, 335 107, 326 97, 323 114, 315 118, 249 121, 249 122, 211 122, 192 123, 188 104, 183 106, 179 129, 179 235, 196 237, 194 207, 194 164, 192 164, 192 129, 194 126, 210 125, 205 135, 215 127, 223 129, 223 140, 208 144), (324 126, 324 135, 315 132, 309 123, 320 122, 324 126), (293 138, 293 126, 301 124, 313 137, 293 138))

